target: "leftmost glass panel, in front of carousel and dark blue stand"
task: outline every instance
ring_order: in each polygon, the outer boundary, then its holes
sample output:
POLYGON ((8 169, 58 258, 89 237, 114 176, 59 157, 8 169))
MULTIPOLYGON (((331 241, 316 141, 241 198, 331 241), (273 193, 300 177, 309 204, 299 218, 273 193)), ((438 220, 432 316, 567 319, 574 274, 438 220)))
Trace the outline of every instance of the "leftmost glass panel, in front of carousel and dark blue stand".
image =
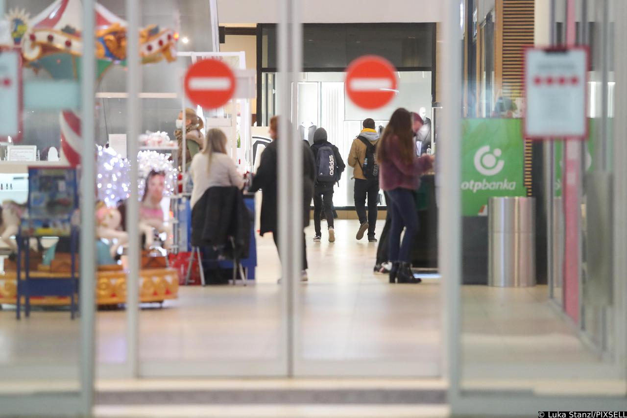
POLYGON ((95 43, 77 34, 92 39, 96 6, 1 4, 13 31, 0 57, 0 414, 87 416, 97 281, 90 162, 96 61, 95 43))

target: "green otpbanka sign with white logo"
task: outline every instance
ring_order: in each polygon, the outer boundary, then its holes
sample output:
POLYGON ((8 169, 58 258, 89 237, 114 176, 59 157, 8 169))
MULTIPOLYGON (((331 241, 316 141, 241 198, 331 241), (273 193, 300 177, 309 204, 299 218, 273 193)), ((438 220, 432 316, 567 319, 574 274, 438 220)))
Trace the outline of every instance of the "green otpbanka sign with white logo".
POLYGON ((477 216, 492 196, 525 196, 520 119, 465 119, 461 142, 462 215, 477 216))

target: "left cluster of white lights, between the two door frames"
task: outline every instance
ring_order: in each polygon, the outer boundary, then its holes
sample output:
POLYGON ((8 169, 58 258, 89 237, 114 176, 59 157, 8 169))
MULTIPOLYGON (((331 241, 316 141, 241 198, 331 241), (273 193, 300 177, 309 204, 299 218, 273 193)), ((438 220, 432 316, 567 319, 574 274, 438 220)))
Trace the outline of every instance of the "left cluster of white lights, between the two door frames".
POLYGON ((98 200, 102 200, 107 206, 115 206, 120 200, 129 198, 129 161, 123 159, 112 148, 99 146, 97 163, 98 200))

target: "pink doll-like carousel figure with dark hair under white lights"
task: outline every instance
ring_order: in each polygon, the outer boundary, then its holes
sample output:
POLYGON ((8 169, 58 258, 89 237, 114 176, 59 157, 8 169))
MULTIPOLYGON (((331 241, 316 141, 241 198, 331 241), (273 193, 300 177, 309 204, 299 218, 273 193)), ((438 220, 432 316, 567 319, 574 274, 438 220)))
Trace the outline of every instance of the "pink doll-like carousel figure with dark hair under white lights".
POLYGON ((152 230, 166 233, 167 239, 164 247, 171 247, 172 227, 169 222, 164 222, 164 213, 161 208, 163 192, 166 188, 166 177, 161 171, 150 171, 146 178, 144 196, 139 206, 139 230, 145 233, 145 248, 150 249, 154 244, 152 230))

